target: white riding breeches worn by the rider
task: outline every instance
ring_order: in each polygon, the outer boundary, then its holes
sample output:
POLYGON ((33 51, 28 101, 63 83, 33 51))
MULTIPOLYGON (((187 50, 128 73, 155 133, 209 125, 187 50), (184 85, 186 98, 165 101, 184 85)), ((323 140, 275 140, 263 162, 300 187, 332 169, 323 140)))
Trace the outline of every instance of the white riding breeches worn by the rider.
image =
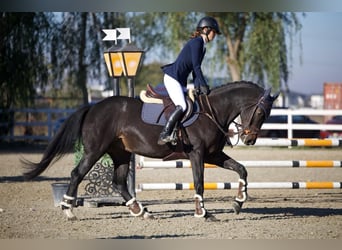
POLYGON ((184 89, 176 79, 167 74, 164 74, 164 85, 173 103, 176 106, 181 106, 184 112, 186 110, 186 102, 184 97, 184 92, 186 92, 186 89, 184 89))

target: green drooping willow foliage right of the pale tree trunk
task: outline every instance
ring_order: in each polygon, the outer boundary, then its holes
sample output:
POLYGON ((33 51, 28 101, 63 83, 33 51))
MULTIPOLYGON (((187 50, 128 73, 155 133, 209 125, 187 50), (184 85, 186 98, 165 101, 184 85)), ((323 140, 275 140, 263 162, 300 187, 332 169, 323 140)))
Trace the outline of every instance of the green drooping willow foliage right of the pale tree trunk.
MULTIPOLYGON (((267 80, 275 89, 288 80, 289 50, 286 45, 286 27, 295 25, 295 16, 283 13, 253 13, 247 34, 246 71, 260 82, 267 80)), ((298 29, 298 27, 297 27, 298 29)))

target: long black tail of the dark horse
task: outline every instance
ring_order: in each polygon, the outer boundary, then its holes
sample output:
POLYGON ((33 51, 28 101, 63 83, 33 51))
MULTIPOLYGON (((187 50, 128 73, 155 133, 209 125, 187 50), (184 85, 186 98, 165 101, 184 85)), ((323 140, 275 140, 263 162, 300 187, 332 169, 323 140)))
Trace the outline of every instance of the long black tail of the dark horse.
POLYGON ((45 149, 40 162, 34 163, 26 159, 21 159, 21 162, 28 169, 24 173, 26 180, 37 177, 51 163, 58 161, 65 154, 74 150, 75 143, 81 138, 83 120, 89 108, 90 106, 84 106, 70 115, 45 149))

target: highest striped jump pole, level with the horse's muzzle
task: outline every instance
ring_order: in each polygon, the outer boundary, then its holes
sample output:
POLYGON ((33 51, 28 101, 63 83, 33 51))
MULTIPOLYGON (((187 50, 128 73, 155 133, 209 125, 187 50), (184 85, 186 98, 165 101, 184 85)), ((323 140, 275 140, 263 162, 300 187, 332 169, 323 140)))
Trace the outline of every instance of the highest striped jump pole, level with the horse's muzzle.
MULTIPOLYGON (((245 146, 241 141, 238 146, 245 146)), ((258 138, 253 146, 274 147, 342 147, 342 139, 268 139, 258 138)))

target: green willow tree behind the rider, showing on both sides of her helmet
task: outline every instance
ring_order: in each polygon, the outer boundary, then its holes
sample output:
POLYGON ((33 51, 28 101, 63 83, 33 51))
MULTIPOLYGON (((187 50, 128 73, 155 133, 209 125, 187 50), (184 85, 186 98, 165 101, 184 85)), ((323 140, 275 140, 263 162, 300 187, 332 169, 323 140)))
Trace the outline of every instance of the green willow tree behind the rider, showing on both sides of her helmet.
MULTIPOLYGON (((213 45, 216 53, 208 58, 211 63, 226 65, 232 81, 267 80, 275 89, 286 84, 289 74, 289 51, 286 38, 292 39, 300 30, 296 13, 261 12, 208 12, 208 13, 148 13, 163 20, 163 45, 168 51, 179 51, 205 15, 217 19, 222 31, 213 45)), ((155 22, 160 26, 160 22, 155 22)), ((155 31, 156 32, 156 31, 155 31)), ((175 54, 174 54, 175 56, 175 54)), ((208 56, 208 55, 207 55, 208 56)))

